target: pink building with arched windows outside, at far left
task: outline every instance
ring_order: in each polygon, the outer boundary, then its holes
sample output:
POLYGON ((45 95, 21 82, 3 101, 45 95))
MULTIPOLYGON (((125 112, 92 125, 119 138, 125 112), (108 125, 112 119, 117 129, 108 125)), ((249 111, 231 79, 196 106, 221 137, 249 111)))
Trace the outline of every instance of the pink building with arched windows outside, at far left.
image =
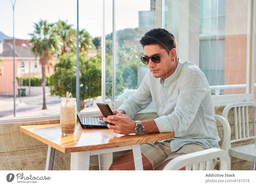
MULTIPOLYGON (((13 95, 13 40, 5 40, 0 42, 0 95, 13 95)), ((54 64, 58 58, 50 60, 46 66, 46 76, 54 73, 54 64)), ((29 62, 30 62, 30 77, 41 77, 41 66, 39 58, 35 58, 31 51, 31 46, 28 40, 15 39, 15 75, 16 77, 29 76, 29 62), (22 46, 22 44, 28 46, 22 46)), ((18 89, 18 82, 16 81, 16 91, 18 89)))

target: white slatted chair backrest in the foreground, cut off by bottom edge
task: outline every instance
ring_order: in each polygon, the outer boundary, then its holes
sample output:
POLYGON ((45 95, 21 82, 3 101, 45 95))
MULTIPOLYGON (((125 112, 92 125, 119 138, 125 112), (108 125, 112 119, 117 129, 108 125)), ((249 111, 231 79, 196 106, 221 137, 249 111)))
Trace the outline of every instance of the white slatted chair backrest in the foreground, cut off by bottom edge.
POLYGON ((230 158, 226 151, 210 148, 178 156, 166 164, 163 170, 212 170, 211 160, 220 158, 220 170, 230 170, 230 158))

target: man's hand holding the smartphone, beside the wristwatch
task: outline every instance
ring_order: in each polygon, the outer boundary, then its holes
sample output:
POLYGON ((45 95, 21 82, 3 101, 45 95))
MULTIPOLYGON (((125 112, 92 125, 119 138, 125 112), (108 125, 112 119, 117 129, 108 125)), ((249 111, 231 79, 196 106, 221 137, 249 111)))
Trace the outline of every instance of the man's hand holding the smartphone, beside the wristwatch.
POLYGON ((103 118, 104 121, 113 123, 115 125, 108 124, 108 128, 113 129, 113 132, 117 134, 131 134, 135 133, 136 122, 130 119, 125 114, 116 114, 103 118))

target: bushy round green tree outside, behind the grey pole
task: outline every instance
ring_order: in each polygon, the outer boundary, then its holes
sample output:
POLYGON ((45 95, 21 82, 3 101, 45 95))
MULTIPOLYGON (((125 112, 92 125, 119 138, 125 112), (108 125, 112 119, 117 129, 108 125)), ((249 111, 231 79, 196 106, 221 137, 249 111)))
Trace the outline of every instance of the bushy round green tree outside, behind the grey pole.
MULTIPOLYGON (((107 60, 111 56, 106 55, 107 60)), ((86 52, 79 54, 80 63, 80 97, 82 100, 94 98, 101 95, 101 53, 88 58, 86 52)), ((112 69, 111 69, 112 70, 112 69)), ((110 67, 107 68, 110 71, 110 67)), ((120 76, 122 79, 122 76, 120 76)), ((120 81, 121 83, 123 81, 120 81)), ((123 85, 119 85, 122 91, 123 85)), ((66 92, 76 97, 76 54, 65 53, 59 56, 59 63, 54 66, 54 74, 50 77, 50 88, 52 95, 65 97, 66 92)), ((106 88, 107 89, 107 88, 106 88)))

